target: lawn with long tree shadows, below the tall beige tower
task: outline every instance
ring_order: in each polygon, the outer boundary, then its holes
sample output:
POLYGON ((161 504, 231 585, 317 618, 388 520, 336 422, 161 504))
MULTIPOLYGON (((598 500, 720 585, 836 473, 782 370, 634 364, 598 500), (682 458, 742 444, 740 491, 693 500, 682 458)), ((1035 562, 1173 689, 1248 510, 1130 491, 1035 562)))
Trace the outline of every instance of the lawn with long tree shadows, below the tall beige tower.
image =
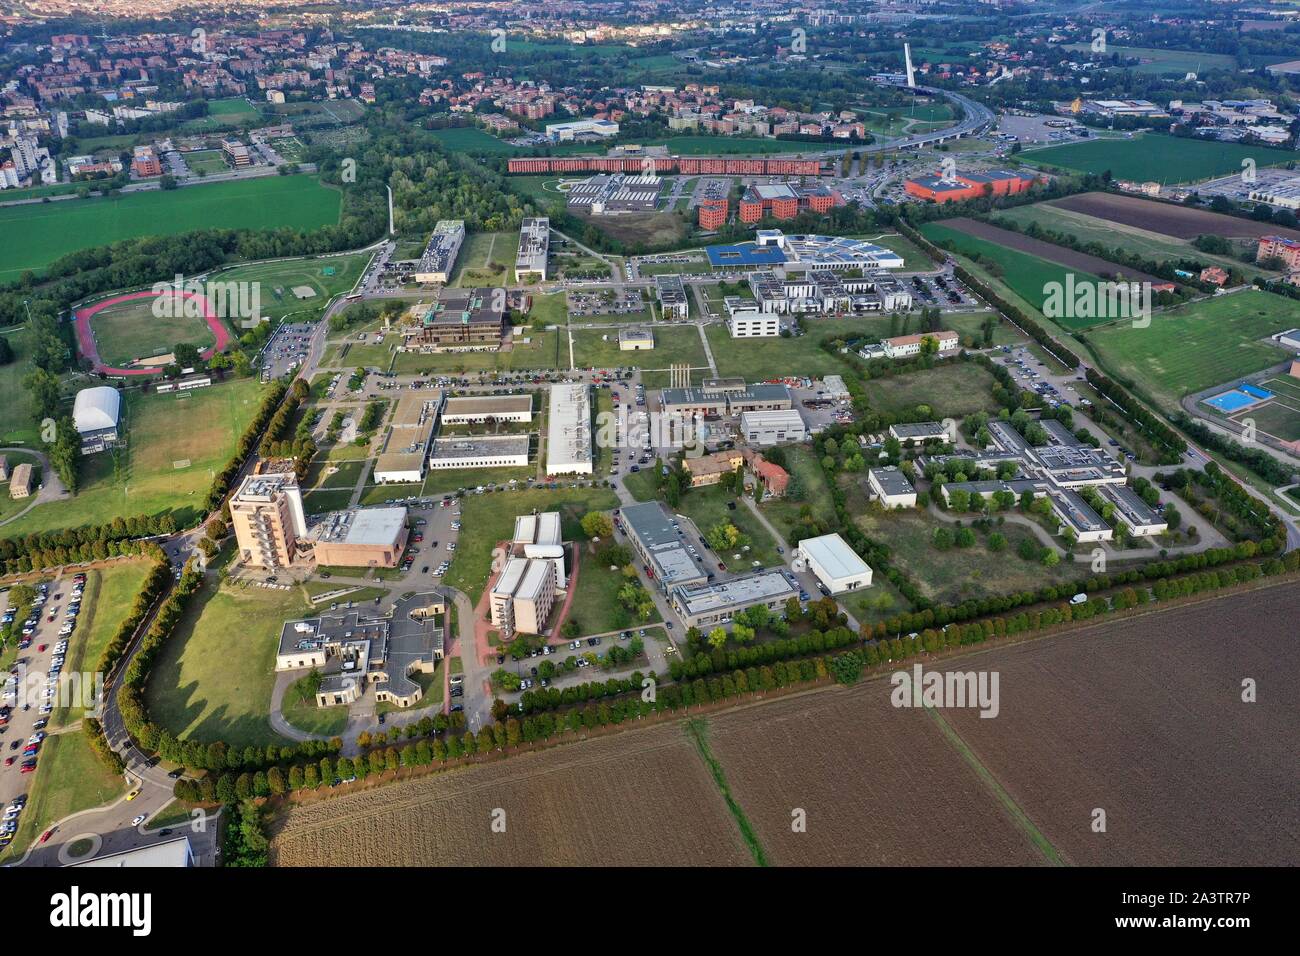
POLYGON ((150 718, 183 739, 280 743, 270 728, 280 628, 313 614, 303 592, 218 584, 209 575, 157 656, 150 718))

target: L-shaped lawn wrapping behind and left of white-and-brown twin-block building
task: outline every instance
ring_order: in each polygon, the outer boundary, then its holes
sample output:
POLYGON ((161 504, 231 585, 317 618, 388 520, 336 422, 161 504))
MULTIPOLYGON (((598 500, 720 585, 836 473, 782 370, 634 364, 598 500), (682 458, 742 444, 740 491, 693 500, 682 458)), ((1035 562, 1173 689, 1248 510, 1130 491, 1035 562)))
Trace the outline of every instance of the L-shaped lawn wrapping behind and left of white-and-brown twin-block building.
POLYGON ((607 488, 533 488, 519 492, 471 494, 460 503, 464 532, 456 557, 443 578, 446 584, 465 592, 477 604, 491 571, 493 549, 514 532, 515 516, 537 511, 559 511, 564 523, 564 540, 581 540, 578 522, 588 511, 618 507, 618 498, 607 488))

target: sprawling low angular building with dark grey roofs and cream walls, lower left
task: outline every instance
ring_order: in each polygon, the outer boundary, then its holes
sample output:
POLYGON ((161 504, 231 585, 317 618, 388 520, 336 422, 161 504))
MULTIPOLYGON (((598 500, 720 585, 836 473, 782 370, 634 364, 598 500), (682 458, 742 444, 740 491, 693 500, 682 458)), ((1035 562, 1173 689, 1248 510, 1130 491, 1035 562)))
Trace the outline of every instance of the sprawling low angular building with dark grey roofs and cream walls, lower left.
POLYGON ((424 697, 415 674, 433 674, 445 653, 447 614, 442 594, 411 594, 385 617, 339 610, 286 620, 276 649, 276 670, 316 670, 318 706, 352 704, 374 685, 374 700, 410 708, 424 697))

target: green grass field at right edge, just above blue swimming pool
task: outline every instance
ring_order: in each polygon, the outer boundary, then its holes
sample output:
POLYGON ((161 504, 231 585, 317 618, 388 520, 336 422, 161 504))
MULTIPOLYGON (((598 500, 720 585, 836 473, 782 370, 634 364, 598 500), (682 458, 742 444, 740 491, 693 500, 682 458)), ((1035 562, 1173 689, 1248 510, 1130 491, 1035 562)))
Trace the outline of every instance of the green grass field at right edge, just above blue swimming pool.
POLYGON ((1249 290, 1156 312, 1149 328, 1115 323, 1095 329, 1088 345, 1108 373, 1174 408, 1183 395, 1286 359, 1284 349, 1261 339, 1295 325, 1294 303, 1249 290))

